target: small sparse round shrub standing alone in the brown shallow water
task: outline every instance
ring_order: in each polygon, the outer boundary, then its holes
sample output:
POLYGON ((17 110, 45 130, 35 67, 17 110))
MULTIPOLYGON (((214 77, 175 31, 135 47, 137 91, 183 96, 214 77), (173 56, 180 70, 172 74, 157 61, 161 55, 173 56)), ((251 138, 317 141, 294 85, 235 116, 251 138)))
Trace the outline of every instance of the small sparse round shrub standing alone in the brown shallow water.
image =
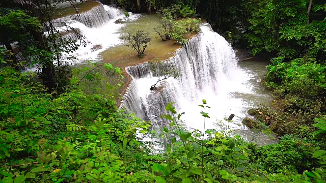
POLYGON ((137 51, 139 57, 144 56, 144 51, 148 46, 148 43, 152 40, 149 37, 149 33, 145 33, 144 31, 127 31, 126 36, 122 37, 122 39, 126 40, 127 46, 132 47, 137 51))

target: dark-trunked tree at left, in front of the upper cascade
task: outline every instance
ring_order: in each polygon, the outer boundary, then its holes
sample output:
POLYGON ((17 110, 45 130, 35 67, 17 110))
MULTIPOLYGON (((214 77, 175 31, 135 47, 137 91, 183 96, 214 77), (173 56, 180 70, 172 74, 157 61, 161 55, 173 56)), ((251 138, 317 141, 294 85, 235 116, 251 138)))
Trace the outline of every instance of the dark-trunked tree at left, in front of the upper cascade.
MULTIPOLYGON (((73 8, 77 10, 74 0, 30 0, 22 1, 4 0, 3 7, 11 9, 22 9, 28 12, 30 16, 36 17, 44 26, 44 30, 32 29, 31 35, 34 44, 26 48, 26 55, 24 57, 30 58, 31 63, 38 64, 42 83, 49 88, 49 92, 62 89, 65 84, 69 83, 70 77, 67 77, 66 72, 69 71, 65 60, 71 60, 73 57, 69 53, 78 49, 80 45, 85 45, 85 37, 80 34, 77 29, 66 25, 65 29, 58 30, 51 21, 51 15, 55 12, 56 6, 60 3, 69 2, 73 8), (80 44, 75 40, 66 39, 60 32, 70 32, 76 34, 80 40, 80 44), (56 64, 54 64, 56 62, 56 64), (67 70, 68 69, 68 70, 67 70)), ((69 75, 69 74, 68 74, 69 75)))

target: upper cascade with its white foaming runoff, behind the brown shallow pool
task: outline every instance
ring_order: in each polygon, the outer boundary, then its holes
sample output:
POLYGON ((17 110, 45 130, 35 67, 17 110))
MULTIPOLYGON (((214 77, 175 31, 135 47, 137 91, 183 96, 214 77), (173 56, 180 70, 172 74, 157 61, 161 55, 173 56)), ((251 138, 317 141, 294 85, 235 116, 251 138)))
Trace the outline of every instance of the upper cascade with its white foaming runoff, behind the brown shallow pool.
MULTIPOLYGON (((132 21, 139 17, 139 14, 130 13, 130 16, 126 18, 122 9, 99 4, 87 12, 54 19, 52 22, 58 22, 55 23, 55 26, 59 31, 66 30, 63 23, 60 23, 64 22, 78 29, 85 36, 89 44, 85 47, 80 46, 72 54, 78 58, 77 62, 83 62, 84 60, 99 60, 100 52, 123 43, 118 30, 125 24, 115 23, 116 20, 132 21)), ((65 37, 77 40, 72 33, 66 34, 65 37)))

